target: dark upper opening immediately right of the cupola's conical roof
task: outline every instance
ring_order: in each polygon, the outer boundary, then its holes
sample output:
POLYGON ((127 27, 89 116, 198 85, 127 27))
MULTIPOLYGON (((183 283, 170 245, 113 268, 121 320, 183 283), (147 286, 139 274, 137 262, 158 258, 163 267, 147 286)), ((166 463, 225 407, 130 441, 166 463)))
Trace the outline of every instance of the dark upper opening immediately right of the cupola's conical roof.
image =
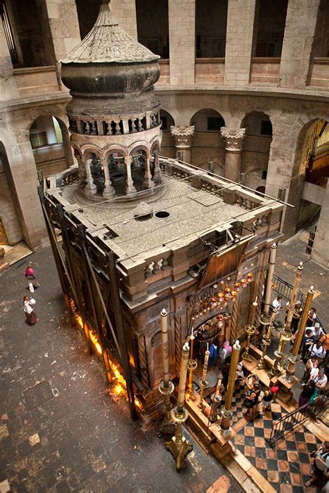
POLYGON ((169 58, 168 0, 136 0, 138 41, 161 58, 169 58))

